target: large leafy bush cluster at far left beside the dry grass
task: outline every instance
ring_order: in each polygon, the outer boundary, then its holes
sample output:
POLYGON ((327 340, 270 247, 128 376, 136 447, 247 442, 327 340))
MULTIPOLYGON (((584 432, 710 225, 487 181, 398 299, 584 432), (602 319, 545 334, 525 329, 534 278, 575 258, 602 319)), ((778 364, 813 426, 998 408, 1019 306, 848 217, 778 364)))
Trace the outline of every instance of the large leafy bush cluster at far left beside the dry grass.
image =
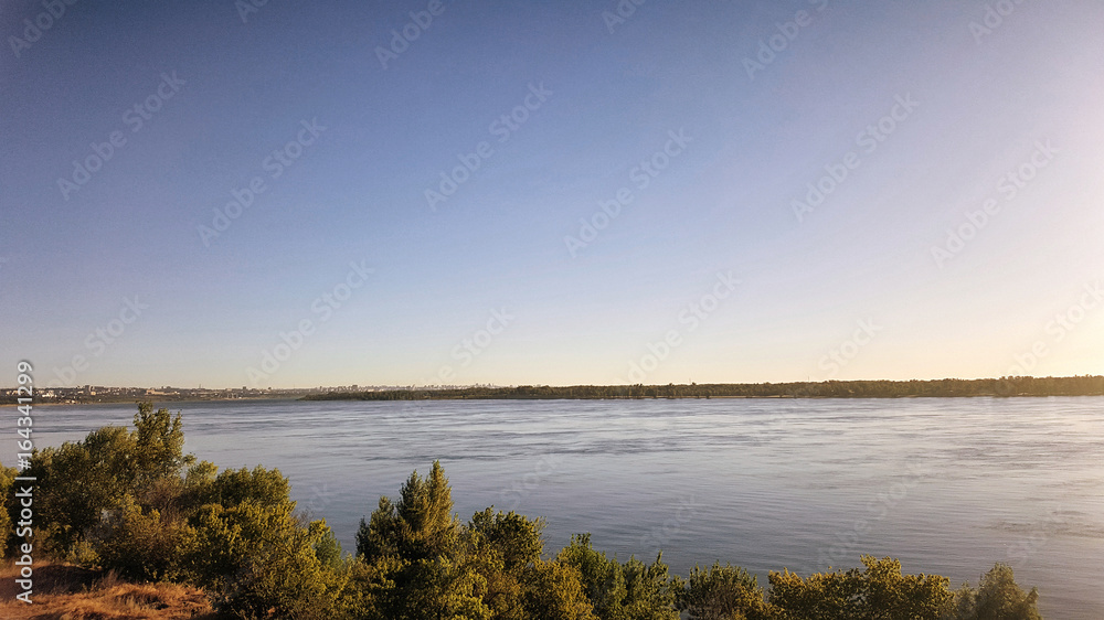
POLYGON ((142 403, 132 431, 36 452, 25 474, 38 477, 40 548, 129 579, 202 585, 240 618, 332 617, 347 569, 326 523, 296 516, 279 471, 219 473, 183 442, 179 414, 142 403))

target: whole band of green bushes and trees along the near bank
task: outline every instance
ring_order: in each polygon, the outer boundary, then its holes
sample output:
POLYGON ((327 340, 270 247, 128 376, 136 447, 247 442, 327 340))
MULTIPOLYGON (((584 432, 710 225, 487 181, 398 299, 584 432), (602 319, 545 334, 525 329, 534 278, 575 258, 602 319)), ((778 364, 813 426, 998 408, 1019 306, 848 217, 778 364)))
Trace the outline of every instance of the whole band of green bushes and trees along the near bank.
MULTIPOLYGON (((771 571, 762 587, 718 563, 672 576, 659 554, 618 560, 572 537, 544 548, 543 519, 488 507, 461 522, 439 462, 415 471, 395 500, 361 520, 354 554, 325 520, 290 500, 288 480, 263 467, 219 469, 184 455, 180 414, 138 406, 135 429, 104 427, 36 451, 38 554, 112 569, 136 581, 204 588, 243 619, 1038 619, 1038 592, 997 564, 978 587, 907 575, 891 558, 802 577, 771 571)), ((13 483, 0 468, 7 554, 23 541, 13 483)))

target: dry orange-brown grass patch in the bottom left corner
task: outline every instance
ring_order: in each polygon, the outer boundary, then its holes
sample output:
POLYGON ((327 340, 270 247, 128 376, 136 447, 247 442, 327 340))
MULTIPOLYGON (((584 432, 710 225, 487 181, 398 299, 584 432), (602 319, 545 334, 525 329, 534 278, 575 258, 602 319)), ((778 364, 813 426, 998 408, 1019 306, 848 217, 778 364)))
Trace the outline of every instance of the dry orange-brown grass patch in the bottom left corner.
POLYGON ((178 584, 128 584, 114 573, 61 563, 34 566, 32 605, 15 600, 14 564, 0 567, 3 620, 217 620, 203 590, 178 584))

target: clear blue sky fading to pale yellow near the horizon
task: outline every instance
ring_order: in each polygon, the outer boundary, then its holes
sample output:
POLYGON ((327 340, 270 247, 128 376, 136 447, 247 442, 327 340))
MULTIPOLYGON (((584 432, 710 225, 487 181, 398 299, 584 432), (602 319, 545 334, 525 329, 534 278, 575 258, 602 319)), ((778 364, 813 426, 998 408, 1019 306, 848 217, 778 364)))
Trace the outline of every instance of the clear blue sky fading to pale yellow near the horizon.
POLYGON ((1104 374, 1104 3, 0 7, 0 385, 1104 374))

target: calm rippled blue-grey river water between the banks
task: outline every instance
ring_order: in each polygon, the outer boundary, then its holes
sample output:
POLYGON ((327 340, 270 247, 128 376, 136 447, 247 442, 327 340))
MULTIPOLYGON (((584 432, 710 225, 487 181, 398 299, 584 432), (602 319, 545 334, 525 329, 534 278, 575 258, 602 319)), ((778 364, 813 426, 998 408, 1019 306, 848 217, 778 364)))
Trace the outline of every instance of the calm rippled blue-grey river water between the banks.
MULTIPOLYGON (((976 585, 995 562, 1048 618, 1104 618, 1104 398, 182 403, 187 450, 277 467, 347 550, 379 496, 439 459, 465 521, 548 519, 678 574, 803 574, 859 555, 976 585)), ((132 405, 40 407, 38 443, 129 424, 132 405)), ((11 441, 0 459, 10 463, 11 441)))

